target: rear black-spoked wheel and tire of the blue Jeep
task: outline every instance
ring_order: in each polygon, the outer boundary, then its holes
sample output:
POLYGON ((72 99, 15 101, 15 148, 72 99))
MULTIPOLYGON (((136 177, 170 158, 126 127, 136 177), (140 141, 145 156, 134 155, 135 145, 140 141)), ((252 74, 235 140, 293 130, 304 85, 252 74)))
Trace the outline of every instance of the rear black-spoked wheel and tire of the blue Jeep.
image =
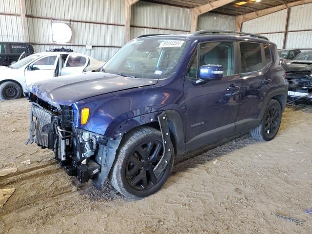
POLYGON ((271 99, 260 124, 250 133, 256 140, 272 140, 279 129, 282 119, 282 107, 277 100, 271 99))

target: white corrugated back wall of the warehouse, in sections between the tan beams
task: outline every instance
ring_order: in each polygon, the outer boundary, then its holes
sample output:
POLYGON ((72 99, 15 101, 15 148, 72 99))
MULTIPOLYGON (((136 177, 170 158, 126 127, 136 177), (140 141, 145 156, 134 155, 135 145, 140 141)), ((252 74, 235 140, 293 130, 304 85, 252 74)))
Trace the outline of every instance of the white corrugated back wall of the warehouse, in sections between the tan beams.
MULTIPOLYGON (((107 61, 125 41, 124 0, 25 0, 26 28, 36 52, 72 48, 107 61), (64 22, 72 29, 69 43, 52 39, 52 23, 64 22), (92 45, 87 50, 86 45, 92 45)), ((23 41, 20 0, 0 0, 0 41, 23 41)), ((132 6, 131 38, 143 34, 189 34, 191 9, 138 1, 132 6)), ((198 29, 233 30, 231 16, 206 13, 198 29)))

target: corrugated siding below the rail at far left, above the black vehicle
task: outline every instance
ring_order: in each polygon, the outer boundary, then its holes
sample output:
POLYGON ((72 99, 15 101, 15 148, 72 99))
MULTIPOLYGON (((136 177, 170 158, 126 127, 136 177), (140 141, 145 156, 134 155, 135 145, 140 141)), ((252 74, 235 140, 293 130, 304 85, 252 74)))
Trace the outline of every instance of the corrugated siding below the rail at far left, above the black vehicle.
POLYGON ((23 41, 19 16, 0 15, 0 41, 23 41))

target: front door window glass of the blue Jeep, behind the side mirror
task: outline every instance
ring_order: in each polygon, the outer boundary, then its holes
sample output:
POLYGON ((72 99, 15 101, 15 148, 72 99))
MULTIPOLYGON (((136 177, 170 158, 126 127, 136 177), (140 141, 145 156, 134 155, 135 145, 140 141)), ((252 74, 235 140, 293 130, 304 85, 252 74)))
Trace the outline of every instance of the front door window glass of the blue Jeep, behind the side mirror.
POLYGON ((200 44, 198 68, 202 65, 222 65, 224 76, 234 74, 234 43, 233 42, 209 42, 200 44))

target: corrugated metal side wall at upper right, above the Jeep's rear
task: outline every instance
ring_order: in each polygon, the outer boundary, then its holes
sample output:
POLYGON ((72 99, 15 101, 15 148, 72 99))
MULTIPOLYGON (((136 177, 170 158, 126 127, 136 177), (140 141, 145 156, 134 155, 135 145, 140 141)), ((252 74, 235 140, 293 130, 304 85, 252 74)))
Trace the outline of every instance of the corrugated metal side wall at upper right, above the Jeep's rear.
POLYGON ((243 22, 242 32, 266 36, 282 49, 312 49, 312 3, 289 8, 243 22), (286 33, 286 36, 285 36, 286 33), (284 43, 285 38, 285 43, 284 43))

